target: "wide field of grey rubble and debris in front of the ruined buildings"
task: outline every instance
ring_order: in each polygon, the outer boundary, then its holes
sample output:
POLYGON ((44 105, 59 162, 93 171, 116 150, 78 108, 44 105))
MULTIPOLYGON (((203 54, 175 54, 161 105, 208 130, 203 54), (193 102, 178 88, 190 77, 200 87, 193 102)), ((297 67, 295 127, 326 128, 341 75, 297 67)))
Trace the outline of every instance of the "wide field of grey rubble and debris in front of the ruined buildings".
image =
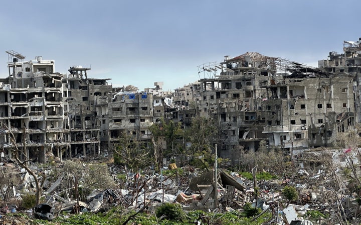
MULTIPOLYGON (((78 159, 76 163, 83 167, 91 161, 86 158, 82 160, 78 159)), ((151 169, 133 172, 109 163, 108 168, 116 185, 102 186, 100 189, 84 186, 85 179, 79 175, 79 179, 76 179, 75 173, 64 172, 62 163, 47 167, 30 164, 28 166, 42 180, 43 202, 33 208, 25 208, 10 205, 9 202, 21 202, 25 195, 35 193, 34 177, 10 160, 1 162, 0 166, 3 170, 12 169, 20 180, 18 184, 14 180, 3 183, 3 199, 7 190, 9 195, 0 210, 0 221, 3 223, 17 212, 51 221, 64 211, 97 213, 107 212, 116 206, 150 213, 164 202, 178 203, 185 211, 208 212, 241 212, 246 203, 251 203, 253 207, 260 208, 262 213, 271 213, 269 222, 274 224, 312 224, 310 220, 315 221, 314 211, 322 215, 316 219, 319 223, 355 222, 360 213, 355 194, 346 187, 347 183, 343 180, 335 181, 336 172, 322 169, 299 167, 294 168, 292 176, 287 178, 250 180, 240 173, 225 169, 219 169, 215 179, 214 170, 204 172, 191 166, 163 167, 160 172, 151 169), (53 177, 55 171, 62 173, 53 177), (286 186, 295 187, 298 197, 287 199, 282 192, 286 186), (11 212, 12 215, 9 214, 11 212)))

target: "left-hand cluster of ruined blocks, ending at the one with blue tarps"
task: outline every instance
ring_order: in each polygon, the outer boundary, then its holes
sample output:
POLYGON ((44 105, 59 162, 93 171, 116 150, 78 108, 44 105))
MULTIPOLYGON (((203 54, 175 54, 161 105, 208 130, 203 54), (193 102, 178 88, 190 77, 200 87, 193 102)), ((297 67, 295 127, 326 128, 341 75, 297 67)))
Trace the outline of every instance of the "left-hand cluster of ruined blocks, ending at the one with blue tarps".
POLYGON ((9 76, 0 79, 2 156, 11 157, 16 144, 25 152, 20 159, 44 162, 47 152, 60 158, 107 153, 122 132, 150 139, 152 94, 113 89, 109 78, 88 78, 90 68, 71 66, 66 75, 54 72, 54 60, 6 52, 9 76))

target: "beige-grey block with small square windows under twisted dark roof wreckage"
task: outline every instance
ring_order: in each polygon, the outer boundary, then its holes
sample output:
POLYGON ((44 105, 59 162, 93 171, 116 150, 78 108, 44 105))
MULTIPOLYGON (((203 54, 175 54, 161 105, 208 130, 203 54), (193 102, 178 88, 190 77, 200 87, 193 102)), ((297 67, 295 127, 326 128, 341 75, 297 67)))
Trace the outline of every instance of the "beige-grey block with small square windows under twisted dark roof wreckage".
POLYGON ((337 132, 354 125, 354 76, 294 72, 268 85, 266 126, 269 143, 289 150, 331 146, 337 132))

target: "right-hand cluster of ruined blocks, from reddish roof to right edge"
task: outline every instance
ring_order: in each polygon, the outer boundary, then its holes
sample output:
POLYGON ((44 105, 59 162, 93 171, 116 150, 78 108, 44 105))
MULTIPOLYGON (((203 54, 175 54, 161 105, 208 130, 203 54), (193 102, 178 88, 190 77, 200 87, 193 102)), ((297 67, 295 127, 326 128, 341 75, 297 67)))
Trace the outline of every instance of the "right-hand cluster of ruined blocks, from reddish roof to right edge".
POLYGON ((190 84, 177 95, 186 100, 192 93, 197 113, 218 121, 222 157, 235 159, 240 146, 257 150, 262 139, 294 153, 332 146, 337 132, 360 121, 360 43, 344 41, 344 53, 330 52, 318 68, 257 52, 225 56, 202 67, 214 75, 200 79, 197 93, 190 84))

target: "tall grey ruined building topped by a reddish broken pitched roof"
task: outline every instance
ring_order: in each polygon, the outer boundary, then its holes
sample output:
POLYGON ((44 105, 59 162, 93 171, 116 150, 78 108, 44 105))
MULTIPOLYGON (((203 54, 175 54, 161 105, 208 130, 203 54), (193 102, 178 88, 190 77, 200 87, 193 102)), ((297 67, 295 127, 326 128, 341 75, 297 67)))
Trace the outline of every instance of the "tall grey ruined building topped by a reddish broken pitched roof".
POLYGON ((197 109, 200 115, 214 116, 218 121, 220 156, 231 155, 239 146, 255 150, 266 138, 262 102, 267 91, 262 85, 272 82, 276 59, 257 52, 225 56, 217 66, 222 68, 219 75, 200 80, 197 109))

